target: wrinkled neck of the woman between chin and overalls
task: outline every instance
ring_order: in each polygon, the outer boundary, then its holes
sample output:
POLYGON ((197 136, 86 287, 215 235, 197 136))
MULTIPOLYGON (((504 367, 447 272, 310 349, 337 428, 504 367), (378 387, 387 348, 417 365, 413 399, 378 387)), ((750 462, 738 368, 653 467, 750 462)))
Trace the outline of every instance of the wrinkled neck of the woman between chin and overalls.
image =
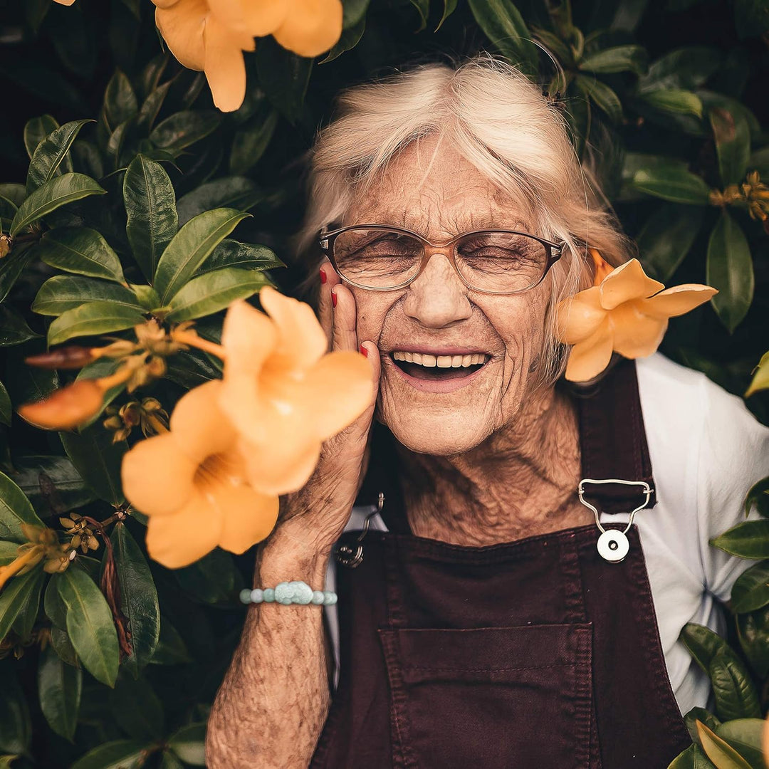
POLYGON ((574 403, 550 390, 514 424, 470 451, 415 454, 397 446, 411 531, 483 545, 588 523, 576 499, 579 429, 574 403))

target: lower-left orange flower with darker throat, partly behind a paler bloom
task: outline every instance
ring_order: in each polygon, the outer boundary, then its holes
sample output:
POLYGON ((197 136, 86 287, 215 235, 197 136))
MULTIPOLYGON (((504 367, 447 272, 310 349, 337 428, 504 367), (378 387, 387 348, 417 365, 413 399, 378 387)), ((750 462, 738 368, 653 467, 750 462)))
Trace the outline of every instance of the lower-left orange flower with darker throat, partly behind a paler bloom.
POLYGON ((221 381, 185 394, 171 429, 125 454, 123 491, 149 516, 147 549, 158 563, 181 568, 217 545, 242 553, 272 531, 278 498, 246 481, 235 429, 218 407, 221 381))

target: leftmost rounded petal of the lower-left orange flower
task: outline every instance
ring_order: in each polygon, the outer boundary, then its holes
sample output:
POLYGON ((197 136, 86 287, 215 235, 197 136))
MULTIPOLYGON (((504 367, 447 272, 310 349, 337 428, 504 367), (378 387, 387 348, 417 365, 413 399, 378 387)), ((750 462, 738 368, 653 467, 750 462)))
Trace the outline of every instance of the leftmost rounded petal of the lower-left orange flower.
POLYGON ((197 469, 170 433, 145 438, 123 457, 123 493, 142 513, 172 514, 190 498, 197 469))

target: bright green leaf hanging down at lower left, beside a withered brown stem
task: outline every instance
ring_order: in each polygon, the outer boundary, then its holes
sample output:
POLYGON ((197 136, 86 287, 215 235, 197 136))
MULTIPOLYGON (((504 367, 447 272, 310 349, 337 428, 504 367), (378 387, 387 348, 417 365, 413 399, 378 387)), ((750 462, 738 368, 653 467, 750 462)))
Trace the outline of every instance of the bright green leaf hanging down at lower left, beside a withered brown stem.
POLYGON ((80 568, 54 574, 56 589, 67 608, 67 634, 85 669, 109 687, 118 675, 118 634, 102 591, 80 568))

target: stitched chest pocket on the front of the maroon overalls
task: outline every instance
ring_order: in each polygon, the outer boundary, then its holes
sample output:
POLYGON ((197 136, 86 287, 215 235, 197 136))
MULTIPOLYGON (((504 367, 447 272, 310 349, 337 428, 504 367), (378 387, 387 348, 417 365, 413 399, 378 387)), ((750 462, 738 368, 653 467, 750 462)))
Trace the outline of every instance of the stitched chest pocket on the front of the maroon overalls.
POLYGON ((600 769, 591 623, 378 633, 395 766, 600 769))

